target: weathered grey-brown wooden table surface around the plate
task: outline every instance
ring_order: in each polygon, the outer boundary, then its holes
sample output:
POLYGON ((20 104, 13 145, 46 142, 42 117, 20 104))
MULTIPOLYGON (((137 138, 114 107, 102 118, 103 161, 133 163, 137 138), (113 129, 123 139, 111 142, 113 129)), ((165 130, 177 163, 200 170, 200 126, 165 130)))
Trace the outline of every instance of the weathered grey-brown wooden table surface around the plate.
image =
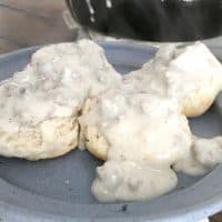
MULTIPOLYGON (((63 0, 0 0, 0 53, 44 43, 73 41, 63 0)), ((222 213, 211 222, 222 222, 222 213)))

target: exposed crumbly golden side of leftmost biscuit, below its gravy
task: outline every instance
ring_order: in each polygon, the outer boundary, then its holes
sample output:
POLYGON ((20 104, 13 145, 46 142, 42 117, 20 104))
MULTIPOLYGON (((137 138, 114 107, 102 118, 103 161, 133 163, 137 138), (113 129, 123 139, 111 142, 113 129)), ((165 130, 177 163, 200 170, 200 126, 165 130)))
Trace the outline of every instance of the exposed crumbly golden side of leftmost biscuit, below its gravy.
POLYGON ((37 161, 63 155, 78 145, 75 118, 54 118, 17 133, 0 129, 0 154, 37 161))

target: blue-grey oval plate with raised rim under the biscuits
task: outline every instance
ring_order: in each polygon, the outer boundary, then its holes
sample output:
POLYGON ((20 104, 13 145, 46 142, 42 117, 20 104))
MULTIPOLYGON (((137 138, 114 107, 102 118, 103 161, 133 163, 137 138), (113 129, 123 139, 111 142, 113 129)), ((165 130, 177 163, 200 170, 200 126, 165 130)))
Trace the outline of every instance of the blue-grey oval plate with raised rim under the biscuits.
MULTIPOLYGON (((109 61, 125 73, 140 68, 155 53, 145 46, 103 42, 109 61)), ((0 79, 21 70, 37 48, 0 57, 0 79)), ((215 105, 191 121, 194 133, 222 134, 222 121, 215 105)), ((138 203, 101 204, 90 193, 94 169, 101 162, 87 151, 73 151, 56 160, 29 162, 0 158, 0 220, 30 221, 155 221, 191 222, 222 209, 222 167, 208 175, 179 175, 171 193, 138 203)))

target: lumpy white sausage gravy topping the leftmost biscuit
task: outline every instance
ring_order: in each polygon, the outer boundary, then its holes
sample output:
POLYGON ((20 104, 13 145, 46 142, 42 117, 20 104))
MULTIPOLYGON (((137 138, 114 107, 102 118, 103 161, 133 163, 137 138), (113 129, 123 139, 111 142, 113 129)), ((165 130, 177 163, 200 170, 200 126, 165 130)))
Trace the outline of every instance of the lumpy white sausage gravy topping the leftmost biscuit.
POLYGON ((118 82, 121 77, 91 41, 46 47, 22 72, 0 83, 0 129, 12 133, 52 118, 78 115, 88 97, 118 82))

